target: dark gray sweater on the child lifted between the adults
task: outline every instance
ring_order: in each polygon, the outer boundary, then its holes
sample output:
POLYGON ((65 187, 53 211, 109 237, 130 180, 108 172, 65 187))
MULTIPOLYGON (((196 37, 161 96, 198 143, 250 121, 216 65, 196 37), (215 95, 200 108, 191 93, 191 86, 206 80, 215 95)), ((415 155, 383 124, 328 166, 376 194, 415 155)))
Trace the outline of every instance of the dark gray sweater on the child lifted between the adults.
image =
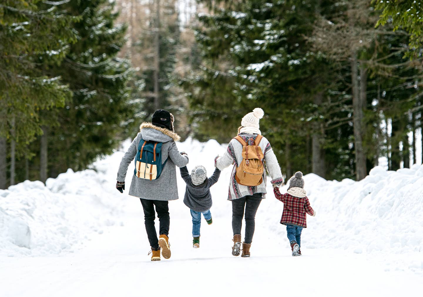
POLYGON ((198 186, 192 184, 190 173, 187 166, 179 168, 182 179, 187 187, 185 189, 184 203, 195 212, 206 212, 211 208, 210 187, 214 185, 220 176, 220 170, 215 169, 213 175, 198 186))

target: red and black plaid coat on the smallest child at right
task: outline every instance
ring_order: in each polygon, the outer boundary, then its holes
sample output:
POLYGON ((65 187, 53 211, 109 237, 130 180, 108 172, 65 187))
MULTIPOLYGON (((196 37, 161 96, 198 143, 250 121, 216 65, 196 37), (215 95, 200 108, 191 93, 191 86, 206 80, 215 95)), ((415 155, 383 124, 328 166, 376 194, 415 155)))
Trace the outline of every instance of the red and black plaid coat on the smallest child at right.
POLYGON ((314 214, 314 210, 311 208, 307 196, 298 198, 288 193, 281 194, 278 187, 274 187, 273 192, 275 193, 276 199, 283 202, 283 212, 280 223, 283 225, 294 224, 307 228, 306 213, 311 216, 314 214))

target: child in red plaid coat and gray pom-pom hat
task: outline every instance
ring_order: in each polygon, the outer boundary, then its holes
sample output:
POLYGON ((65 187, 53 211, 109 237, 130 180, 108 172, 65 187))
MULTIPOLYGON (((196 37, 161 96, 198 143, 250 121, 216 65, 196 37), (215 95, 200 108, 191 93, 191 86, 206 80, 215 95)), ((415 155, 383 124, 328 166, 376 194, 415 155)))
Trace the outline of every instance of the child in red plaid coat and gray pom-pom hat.
POLYGON ((298 171, 291 177, 287 193, 285 194, 279 192, 276 184, 272 185, 276 199, 283 202, 280 223, 286 225, 292 256, 301 256, 301 231, 302 228, 307 228, 306 213, 313 217, 316 216, 316 212, 311 208, 310 201, 305 195, 302 172, 298 171))

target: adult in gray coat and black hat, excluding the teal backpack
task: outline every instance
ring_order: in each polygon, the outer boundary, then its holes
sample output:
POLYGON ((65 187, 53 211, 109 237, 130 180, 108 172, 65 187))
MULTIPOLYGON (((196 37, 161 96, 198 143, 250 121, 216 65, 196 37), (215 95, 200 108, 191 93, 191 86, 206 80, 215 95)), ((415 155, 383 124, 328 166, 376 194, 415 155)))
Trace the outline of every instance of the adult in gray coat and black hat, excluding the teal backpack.
POLYGON ((129 195, 140 198, 144 210, 144 220, 148 241, 150 242, 151 261, 160 260, 160 250, 162 256, 170 258, 169 248, 169 206, 168 201, 178 199, 178 186, 176 184, 176 166, 184 167, 188 163, 186 153, 180 153, 176 147, 175 141, 180 137, 173 130, 173 115, 167 110, 156 110, 153 114, 151 123, 143 123, 140 126, 140 132, 132 141, 128 151, 122 157, 119 165, 116 188, 123 192, 125 190, 125 177, 129 164, 134 160, 137 154, 138 145, 142 141, 161 142, 162 145, 162 164, 168 160, 162 169, 158 179, 142 179, 132 174, 131 187, 129 195), (156 210, 154 211, 154 207, 156 210), (159 218, 159 239, 154 226, 155 214, 159 218))

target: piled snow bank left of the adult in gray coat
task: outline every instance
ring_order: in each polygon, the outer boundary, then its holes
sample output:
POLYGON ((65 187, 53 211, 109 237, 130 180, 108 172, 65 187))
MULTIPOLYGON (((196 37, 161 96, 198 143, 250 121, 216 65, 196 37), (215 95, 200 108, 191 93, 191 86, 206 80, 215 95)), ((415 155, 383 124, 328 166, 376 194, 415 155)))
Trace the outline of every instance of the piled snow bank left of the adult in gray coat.
POLYGON ((113 171, 122 154, 95 162, 97 171, 69 169, 46 185, 24 181, 0 190, 0 255, 73 252, 107 226, 122 225, 118 214, 124 199, 113 192, 113 171))

